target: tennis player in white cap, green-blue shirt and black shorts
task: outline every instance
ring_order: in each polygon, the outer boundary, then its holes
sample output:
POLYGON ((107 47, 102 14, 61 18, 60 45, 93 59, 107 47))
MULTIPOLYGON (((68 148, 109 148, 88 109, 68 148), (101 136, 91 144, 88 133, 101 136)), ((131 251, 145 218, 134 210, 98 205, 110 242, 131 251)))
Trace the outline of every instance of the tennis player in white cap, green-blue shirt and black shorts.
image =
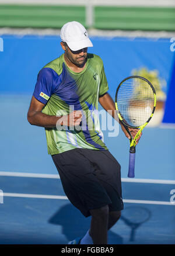
MULTIPOLYGON (((88 53, 92 46, 81 23, 68 22, 62 27, 64 53, 38 73, 27 115, 30 124, 46 129, 48 154, 68 199, 85 217, 92 216, 85 236, 69 244, 107 244, 107 231, 124 207, 120 164, 95 125, 99 123, 98 102, 113 110, 113 117, 115 105, 107 93, 103 61, 88 53)), ((131 129, 133 136, 137 131, 131 129)))

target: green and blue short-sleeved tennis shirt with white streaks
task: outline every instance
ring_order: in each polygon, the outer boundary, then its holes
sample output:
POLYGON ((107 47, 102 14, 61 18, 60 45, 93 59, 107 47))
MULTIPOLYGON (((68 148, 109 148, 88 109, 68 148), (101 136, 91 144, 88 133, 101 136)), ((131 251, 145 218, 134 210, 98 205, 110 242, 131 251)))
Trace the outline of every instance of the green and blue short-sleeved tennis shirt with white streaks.
POLYGON ((40 70, 33 96, 45 104, 43 113, 61 116, 82 111, 81 130, 45 128, 48 154, 74 148, 107 150, 98 115, 99 96, 107 91, 103 61, 95 54, 88 53, 85 68, 79 73, 69 69, 64 54, 40 70))

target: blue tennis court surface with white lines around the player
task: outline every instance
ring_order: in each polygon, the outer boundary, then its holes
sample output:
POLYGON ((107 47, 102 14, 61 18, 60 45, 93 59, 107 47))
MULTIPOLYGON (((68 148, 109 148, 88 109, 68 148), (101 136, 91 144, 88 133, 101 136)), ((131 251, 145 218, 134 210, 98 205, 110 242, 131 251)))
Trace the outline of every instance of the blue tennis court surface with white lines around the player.
MULTIPOLYGON (((0 243, 67 244, 89 229, 71 205, 44 129, 27 122, 31 95, 1 94, 0 243)), ((104 140, 121 164, 124 210, 108 244, 175 243, 174 126, 148 127, 136 147, 135 178, 127 178, 129 142, 119 130, 104 140)))

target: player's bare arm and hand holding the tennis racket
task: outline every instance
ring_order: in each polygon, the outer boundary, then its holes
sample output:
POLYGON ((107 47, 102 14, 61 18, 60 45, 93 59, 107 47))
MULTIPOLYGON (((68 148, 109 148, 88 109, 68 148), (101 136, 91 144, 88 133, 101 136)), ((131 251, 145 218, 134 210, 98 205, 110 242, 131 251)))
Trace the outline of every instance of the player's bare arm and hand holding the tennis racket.
MULTIPOLYGON (((114 117, 115 120, 117 120, 117 122, 119 122, 118 115, 115 110, 115 103, 108 93, 99 96, 99 103, 111 116, 114 117), (108 110, 110 110, 110 111, 108 111, 108 110)), ((120 123, 120 125, 121 125, 121 129, 124 132, 125 136, 128 139, 130 139, 130 136, 127 133, 127 130, 125 129, 125 127, 121 123, 120 123)), ((136 133, 138 132, 138 129, 131 129, 131 128, 128 128, 128 129, 129 129, 129 132, 131 133, 132 137, 135 137, 136 133)), ((142 133, 141 133, 141 135, 142 135, 142 133)), ((138 144, 138 141, 139 141, 141 135, 136 140, 136 144, 138 144)))

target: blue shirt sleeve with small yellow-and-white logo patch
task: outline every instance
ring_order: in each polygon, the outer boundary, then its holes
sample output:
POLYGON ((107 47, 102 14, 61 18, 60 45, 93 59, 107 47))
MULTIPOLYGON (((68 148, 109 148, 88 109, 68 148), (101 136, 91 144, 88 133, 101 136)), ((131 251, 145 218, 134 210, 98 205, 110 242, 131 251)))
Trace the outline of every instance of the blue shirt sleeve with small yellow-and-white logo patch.
POLYGON ((38 73, 33 96, 38 101, 46 104, 52 94, 53 73, 50 68, 43 68, 38 73))

